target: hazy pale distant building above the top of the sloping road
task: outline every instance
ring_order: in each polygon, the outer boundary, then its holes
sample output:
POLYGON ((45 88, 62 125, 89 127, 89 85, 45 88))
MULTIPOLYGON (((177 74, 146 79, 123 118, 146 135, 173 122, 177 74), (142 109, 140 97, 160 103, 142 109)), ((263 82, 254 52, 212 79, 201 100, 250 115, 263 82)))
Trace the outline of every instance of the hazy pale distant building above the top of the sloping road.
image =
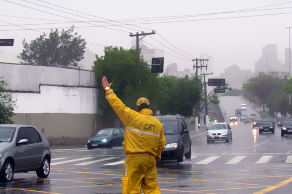
POLYGON ((225 68, 224 73, 220 73, 218 79, 225 79, 225 83, 229 84, 232 89, 242 89, 242 85, 252 77, 252 70, 240 70, 240 68, 234 64, 228 68, 225 68))

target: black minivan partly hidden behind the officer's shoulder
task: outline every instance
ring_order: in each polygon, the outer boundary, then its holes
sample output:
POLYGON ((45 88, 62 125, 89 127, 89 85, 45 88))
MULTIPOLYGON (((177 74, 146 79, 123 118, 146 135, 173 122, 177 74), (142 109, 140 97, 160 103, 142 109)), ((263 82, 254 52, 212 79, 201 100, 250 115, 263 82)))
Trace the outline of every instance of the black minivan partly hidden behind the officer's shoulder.
POLYGON ((165 147, 161 153, 161 160, 176 160, 183 162, 192 157, 192 141, 189 130, 181 115, 155 116, 162 123, 165 136, 165 147))

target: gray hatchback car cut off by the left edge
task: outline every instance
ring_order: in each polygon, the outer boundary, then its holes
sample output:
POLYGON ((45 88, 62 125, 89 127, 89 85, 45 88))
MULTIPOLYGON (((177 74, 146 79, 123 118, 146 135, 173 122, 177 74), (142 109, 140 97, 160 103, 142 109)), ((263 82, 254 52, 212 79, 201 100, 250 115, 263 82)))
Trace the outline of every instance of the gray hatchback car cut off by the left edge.
POLYGON ((15 172, 50 173, 51 152, 46 137, 30 125, 0 124, 0 179, 10 182, 15 172))

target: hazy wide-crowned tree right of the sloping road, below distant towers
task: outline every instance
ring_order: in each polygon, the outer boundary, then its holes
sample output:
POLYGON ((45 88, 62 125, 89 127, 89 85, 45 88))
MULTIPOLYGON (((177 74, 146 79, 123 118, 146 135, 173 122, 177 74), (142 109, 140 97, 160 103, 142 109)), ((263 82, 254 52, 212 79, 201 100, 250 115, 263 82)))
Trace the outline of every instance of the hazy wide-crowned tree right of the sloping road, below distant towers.
POLYGON ((243 84, 242 89, 255 100, 260 100, 265 111, 266 101, 271 92, 284 86, 285 75, 283 72, 257 72, 255 76, 248 79, 248 83, 243 84))

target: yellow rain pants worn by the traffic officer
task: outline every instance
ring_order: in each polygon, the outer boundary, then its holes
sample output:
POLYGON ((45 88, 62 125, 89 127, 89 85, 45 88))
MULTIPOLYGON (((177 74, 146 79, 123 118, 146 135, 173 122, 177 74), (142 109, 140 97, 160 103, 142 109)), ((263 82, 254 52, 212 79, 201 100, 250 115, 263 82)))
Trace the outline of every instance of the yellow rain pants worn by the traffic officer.
POLYGON ((151 153, 128 155, 122 177, 123 194, 160 194, 156 159, 151 153))

